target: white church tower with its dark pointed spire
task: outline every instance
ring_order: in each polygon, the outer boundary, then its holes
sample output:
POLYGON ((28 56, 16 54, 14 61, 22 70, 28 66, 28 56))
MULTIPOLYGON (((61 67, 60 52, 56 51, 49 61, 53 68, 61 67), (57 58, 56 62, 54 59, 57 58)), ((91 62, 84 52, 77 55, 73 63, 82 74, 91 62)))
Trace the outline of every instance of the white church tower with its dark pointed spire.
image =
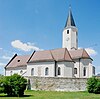
POLYGON ((67 21, 63 30, 62 47, 67 48, 68 50, 78 49, 78 34, 77 34, 77 28, 73 19, 71 7, 69 8, 67 21))

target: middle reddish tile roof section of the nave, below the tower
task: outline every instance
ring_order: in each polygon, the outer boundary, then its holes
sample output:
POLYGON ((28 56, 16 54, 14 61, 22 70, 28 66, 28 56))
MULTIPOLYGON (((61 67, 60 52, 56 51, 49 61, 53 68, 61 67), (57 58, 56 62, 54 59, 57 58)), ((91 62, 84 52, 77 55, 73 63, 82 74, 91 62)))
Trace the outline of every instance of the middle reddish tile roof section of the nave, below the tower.
POLYGON ((72 61, 70 54, 66 48, 37 51, 33 54, 29 62, 39 61, 72 61))

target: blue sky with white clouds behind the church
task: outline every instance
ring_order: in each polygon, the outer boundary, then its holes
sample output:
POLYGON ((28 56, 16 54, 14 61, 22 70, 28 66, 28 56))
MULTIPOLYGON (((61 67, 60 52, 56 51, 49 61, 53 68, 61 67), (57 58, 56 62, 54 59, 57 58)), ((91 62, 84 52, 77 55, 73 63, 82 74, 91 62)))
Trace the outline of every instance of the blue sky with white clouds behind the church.
POLYGON ((0 0, 0 74, 14 56, 62 47, 69 5, 78 28, 78 47, 100 73, 100 0, 0 0))

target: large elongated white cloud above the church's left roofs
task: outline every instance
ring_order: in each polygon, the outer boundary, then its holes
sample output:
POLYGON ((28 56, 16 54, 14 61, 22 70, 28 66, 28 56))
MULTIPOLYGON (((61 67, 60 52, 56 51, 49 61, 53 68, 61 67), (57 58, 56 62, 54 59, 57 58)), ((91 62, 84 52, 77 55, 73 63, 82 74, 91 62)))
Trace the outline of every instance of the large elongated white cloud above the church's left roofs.
POLYGON ((17 48, 17 49, 20 49, 20 50, 23 50, 23 51, 31 51, 31 50, 39 51, 39 50, 42 50, 42 49, 39 49, 37 46, 35 46, 34 43, 30 43, 30 42, 23 43, 20 40, 12 41, 11 45, 14 48, 17 48))

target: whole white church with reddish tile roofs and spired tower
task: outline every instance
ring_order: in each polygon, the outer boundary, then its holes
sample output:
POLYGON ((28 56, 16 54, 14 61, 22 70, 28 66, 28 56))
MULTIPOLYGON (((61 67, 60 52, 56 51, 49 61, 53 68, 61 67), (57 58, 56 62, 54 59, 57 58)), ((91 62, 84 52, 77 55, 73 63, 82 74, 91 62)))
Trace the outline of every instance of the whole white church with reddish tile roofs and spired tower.
POLYGON ((78 29, 71 8, 62 33, 62 48, 17 55, 5 66, 5 76, 89 78, 95 75, 93 59, 78 48, 78 29))

